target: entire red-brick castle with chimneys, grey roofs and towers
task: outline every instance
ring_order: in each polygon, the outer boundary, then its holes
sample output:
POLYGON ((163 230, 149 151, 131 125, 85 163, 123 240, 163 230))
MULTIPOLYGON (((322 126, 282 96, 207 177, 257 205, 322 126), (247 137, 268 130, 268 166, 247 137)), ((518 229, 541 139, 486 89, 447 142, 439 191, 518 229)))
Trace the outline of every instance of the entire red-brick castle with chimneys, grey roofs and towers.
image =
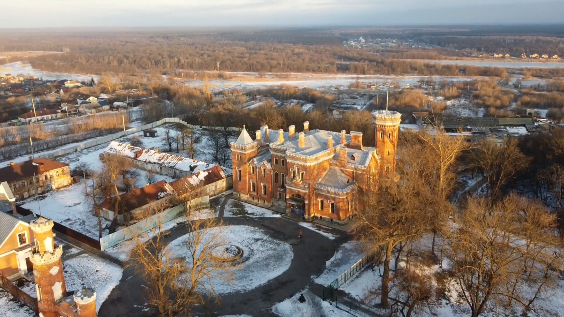
POLYGON ((263 126, 255 140, 243 127, 231 143, 233 196, 309 221, 350 221, 364 177, 395 177, 401 114, 372 116, 375 147, 363 146, 362 133, 310 130, 307 121, 300 133, 263 126))

